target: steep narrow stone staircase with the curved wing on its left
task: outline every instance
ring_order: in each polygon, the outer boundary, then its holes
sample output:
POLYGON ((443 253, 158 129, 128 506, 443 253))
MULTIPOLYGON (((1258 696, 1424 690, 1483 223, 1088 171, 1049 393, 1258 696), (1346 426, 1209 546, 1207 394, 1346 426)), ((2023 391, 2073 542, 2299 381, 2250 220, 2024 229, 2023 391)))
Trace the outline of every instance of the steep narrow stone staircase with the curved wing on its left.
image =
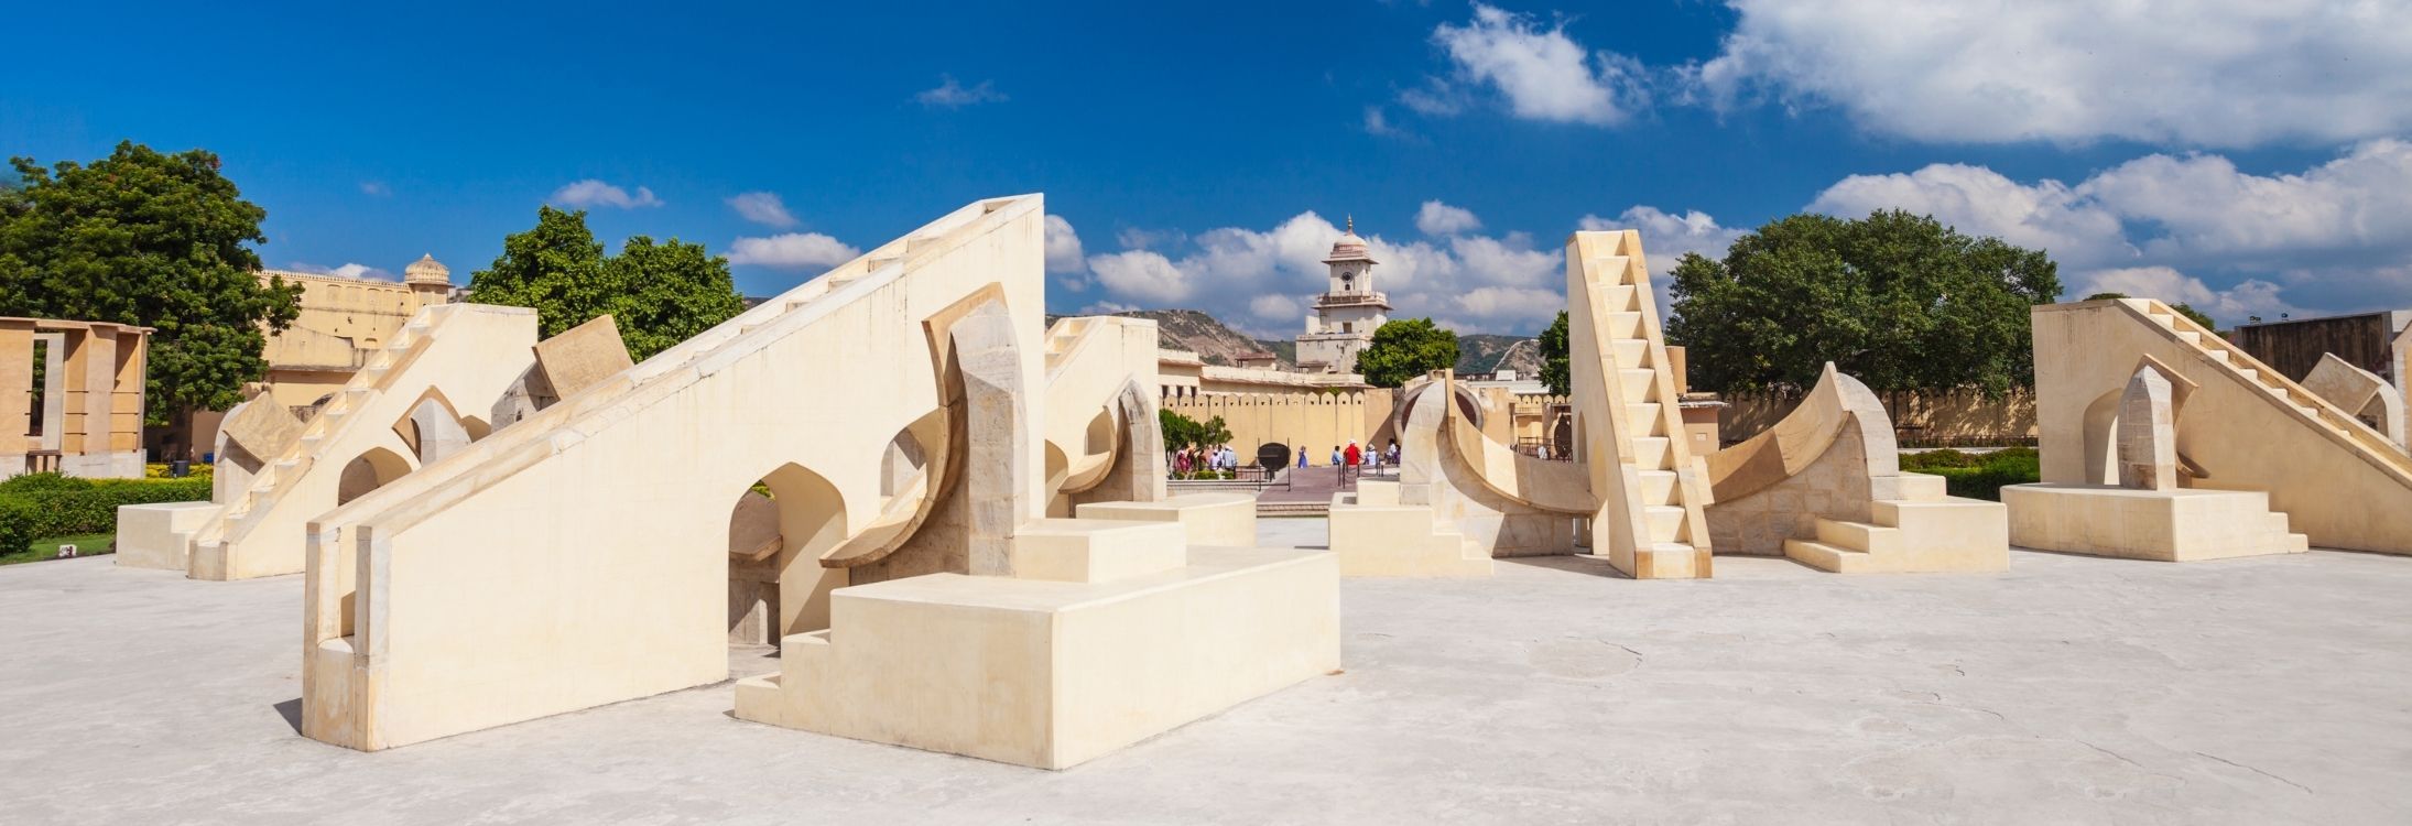
POLYGON ((1640 234, 1565 246, 1570 461, 1481 432, 1435 374, 1401 408, 1397 490, 1331 502, 1331 548, 1358 575, 1483 575, 1495 555, 1590 553, 1638 580, 1708 577, 1708 469, 1691 456, 1640 234))

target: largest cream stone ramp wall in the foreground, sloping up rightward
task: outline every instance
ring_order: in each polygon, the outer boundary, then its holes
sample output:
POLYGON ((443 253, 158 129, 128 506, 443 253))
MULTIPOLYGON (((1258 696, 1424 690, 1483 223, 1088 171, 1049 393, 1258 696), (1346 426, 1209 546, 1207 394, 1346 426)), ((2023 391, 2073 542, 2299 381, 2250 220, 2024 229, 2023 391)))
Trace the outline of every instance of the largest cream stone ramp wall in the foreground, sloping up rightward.
MULTIPOLYGON (((948 401, 948 328, 1015 314, 991 324, 1032 355, 1008 382, 1042 384, 1040 242, 1040 198, 972 203, 323 514, 304 732, 386 749, 726 679, 728 522, 755 483, 781 510, 781 633, 827 623, 847 570, 820 555, 950 488, 900 483, 946 473, 914 466, 943 454, 917 442, 931 411, 979 413, 948 401)), ((1040 440, 1001 449, 1042 466, 1040 440)), ((1037 473, 1003 483, 1044 502, 1037 473)))

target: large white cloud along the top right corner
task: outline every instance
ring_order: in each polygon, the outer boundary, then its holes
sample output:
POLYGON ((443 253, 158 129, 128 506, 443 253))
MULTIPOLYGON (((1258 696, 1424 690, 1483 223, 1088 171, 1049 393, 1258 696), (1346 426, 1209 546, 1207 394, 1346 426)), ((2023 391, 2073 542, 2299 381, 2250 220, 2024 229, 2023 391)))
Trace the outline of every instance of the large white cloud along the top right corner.
POLYGON ((2335 0, 1727 0, 1717 106, 1831 104, 1937 142, 2342 142, 2412 128, 2412 7, 2335 0))

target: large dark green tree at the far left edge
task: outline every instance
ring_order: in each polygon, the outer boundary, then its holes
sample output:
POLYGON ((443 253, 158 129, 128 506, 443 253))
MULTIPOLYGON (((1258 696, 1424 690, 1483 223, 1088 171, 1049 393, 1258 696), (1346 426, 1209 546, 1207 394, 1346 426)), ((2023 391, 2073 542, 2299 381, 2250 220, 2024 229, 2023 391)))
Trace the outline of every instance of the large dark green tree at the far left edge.
POLYGON ((217 155, 137 142, 92 164, 10 164, 0 188, 0 314, 154 328, 147 418, 229 408, 268 372, 260 348, 302 312, 302 287, 260 280, 268 210, 217 155))

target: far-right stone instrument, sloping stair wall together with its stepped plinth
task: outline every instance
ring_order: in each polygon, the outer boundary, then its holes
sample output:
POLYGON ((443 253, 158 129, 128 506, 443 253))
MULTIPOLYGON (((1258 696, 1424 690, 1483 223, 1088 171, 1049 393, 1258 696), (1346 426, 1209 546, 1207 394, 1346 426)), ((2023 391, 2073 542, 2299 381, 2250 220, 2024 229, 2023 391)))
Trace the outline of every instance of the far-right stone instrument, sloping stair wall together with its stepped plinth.
POLYGON ((2002 488, 2012 543, 2152 560, 2412 553, 2412 522, 2390 517, 2412 510, 2412 459, 2357 411, 2161 302, 2033 319, 2043 481, 2002 488))

